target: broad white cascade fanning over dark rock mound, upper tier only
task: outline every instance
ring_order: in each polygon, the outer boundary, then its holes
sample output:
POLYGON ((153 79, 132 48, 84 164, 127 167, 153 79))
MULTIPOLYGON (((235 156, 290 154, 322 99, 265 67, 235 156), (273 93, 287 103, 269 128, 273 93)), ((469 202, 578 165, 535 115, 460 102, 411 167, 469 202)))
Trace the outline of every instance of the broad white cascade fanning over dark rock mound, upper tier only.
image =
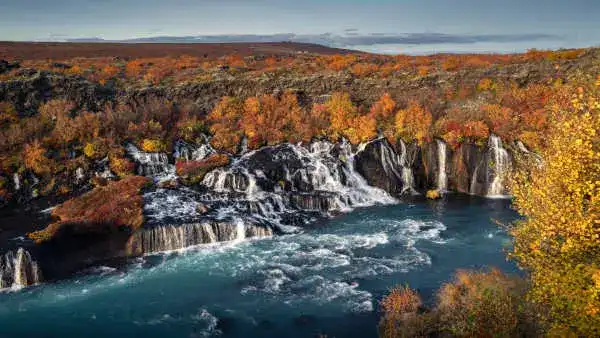
MULTIPOLYGON (((264 153, 249 152, 230 167, 208 173, 203 184, 216 192, 242 194, 244 199, 256 202, 255 205, 262 210, 287 209, 286 205, 290 203, 282 199, 282 186, 288 187, 294 194, 330 193, 328 199, 333 203, 325 203, 329 209, 324 211, 344 211, 357 206, 395 202, 385 191, 369 186, 356 172, 354 154, 347 143, 336 146, 319 141, 309 147, 283 144, 261 151, 268 152, 269 156, 263 158, 264 153), (270 170, 267 174, 263 170, 265 167, 281 170, 270 170), (278 204, 276 208, 273 208, 274 201, 278 204)), ((308 204, 311 209, 323 205, 308 204)))

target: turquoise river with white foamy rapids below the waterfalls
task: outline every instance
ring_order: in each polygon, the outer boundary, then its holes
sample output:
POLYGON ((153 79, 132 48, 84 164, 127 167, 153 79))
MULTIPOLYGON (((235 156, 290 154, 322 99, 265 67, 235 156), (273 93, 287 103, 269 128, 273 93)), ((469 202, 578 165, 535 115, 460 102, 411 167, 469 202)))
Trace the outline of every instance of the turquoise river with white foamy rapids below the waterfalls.
POLYGON ((506 235, 489 220, 504 220, 509 209, 497 206, 507 203, 483 201, 454 214, 424 203, 360 209, 305 233, 148 255, 0 293, 0 327, 7 336, 374 337, 389 287, 409 283, 427 300, 456 268, 506 267, 506 235))

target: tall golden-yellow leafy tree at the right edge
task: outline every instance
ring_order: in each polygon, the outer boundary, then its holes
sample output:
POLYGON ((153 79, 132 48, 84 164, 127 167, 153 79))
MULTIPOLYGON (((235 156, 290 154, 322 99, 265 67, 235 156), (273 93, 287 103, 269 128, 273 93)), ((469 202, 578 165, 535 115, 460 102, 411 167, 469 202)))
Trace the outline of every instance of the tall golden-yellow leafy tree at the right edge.
POLYGON ((512 256, 531 276, 530 298, 547 309, 550 335, 600 335, 600 100, 584 94, 551 116, 543 162, 512 182, 525 220, 512 256))

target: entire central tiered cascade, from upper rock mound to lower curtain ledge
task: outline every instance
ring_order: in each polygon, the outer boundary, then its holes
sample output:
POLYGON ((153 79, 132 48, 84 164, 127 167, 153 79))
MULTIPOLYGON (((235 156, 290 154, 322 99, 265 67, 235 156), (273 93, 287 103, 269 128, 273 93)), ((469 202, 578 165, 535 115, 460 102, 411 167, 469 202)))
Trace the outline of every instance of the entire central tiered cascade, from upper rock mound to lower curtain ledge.
MULTIPOLYGON (((190 149, 179 143, 174 156, 186 158, 190 149)), ((403 167, 401 159, 388 150, 386 165, 397 171, 403 167)), ((130 248, 135 253, 153 253, 239 242, 270 236, 275 230, 297 231, 297 226, 314 220, 315 213, 395 203, 358 174, 354 157, 347 142, 264 147, 207 173, 202 181, 207 191, 180 187, 146 193, 148 225, 132 236, 130 248), (204 211, 199 213, 200 205, 204 211)), ((412 172, 407 176, 412 178, 412 172)), ((406 181, 412 187, 412 181, 406 181)))

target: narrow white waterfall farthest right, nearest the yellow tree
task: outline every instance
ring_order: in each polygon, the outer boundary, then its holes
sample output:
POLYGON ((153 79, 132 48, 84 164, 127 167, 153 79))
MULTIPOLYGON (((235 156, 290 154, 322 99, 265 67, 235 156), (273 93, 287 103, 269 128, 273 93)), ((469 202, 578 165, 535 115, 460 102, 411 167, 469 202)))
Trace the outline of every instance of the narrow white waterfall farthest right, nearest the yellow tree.
POLYGON ((505 178, 510 170, 510 157, 508 151, 502 147, 502 140, 496 135, 490 135, 488 148, 491 152, 493 163, 488 164, 488 179, 491 183, 488 185, 488 196, 500 196, 505 194, 505 178))

